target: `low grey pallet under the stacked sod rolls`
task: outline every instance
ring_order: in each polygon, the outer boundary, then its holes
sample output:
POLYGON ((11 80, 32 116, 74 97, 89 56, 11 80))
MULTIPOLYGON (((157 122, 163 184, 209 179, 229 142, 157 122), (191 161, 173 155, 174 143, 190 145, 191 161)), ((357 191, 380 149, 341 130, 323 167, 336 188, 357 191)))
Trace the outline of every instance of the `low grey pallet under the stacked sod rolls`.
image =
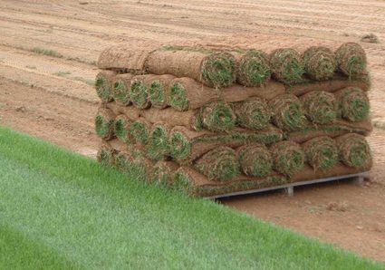
POLYGON ((338 176, 338 177, 319 178, 319 179, 314 179, 314 180, 309 180, 309 181, 300 181, 300 182, 289 183, 286 185, 276 186, 276 187, 271 187, 271 188, 259 188, 259 189, 245 190, 245 191, 236 191, 236 192, 231 192, 231 193, 226 193, 226 194, 215 195, 215 196, 211 196, 211 197, 207 197, 207 198, 211 198, 211 199, 225 198, 225 197, 233 197, 233 196, 240 196, 240 195, 253 194, 253 193, 261 193, 261 192, 265 192, 265 191, 279 190, 279 189, 283 189, 284 192, 287 194, 287 196, 293 197, 295 187, 312 185, 312 184, 317 184, 317 183, 331 182, 331 181, 336 181, 336 180, 347 180, 347 179, 353 180, 353 182, 356 185, 362 185, 363 179, 366 178, 368 175, 369 175, 369 171, 365 171, 365 172, 361 172, 361 173, 349 174, 349 175, 338 176))

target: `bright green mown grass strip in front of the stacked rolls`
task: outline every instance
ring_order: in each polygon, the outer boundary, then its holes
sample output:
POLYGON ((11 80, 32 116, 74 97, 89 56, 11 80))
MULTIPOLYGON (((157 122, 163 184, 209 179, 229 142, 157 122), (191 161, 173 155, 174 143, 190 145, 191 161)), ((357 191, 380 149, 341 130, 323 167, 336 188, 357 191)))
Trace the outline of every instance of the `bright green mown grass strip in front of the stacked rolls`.
POLYGON ((381 269, 0 128, 0 269, 381 269))

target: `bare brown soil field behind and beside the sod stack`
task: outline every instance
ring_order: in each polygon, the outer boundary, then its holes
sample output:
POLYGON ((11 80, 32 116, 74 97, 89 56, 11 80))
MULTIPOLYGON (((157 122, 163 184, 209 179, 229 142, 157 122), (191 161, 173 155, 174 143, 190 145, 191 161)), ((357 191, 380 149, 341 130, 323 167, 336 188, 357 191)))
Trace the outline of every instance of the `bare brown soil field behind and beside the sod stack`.
POLYGON ((94 157, 101 50, 149 41, 278 46, 360 42, 372 74, 375 166, 363 187, 346 183, 229 198, 222 203, 385 262, 385 3, 303 1, 4 1, 0 0, 0 122, 94 157), (52 50, 34 53, 36 48, 52 50), (60 54, 57 54, 60 53, 60 54), (61 56, 61 57, 57 57, 61 56))

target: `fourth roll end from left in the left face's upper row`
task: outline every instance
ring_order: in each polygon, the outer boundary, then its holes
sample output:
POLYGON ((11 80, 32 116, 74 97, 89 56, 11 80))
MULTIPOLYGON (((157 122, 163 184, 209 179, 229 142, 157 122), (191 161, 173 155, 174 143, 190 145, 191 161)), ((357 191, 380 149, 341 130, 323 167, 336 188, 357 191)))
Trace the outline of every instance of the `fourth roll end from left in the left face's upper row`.
POLYGON ((152 107, 164 109, 170 105, 170 84, 174 79, 174 76, 167 74, 151 77, 148 89, 152 107))

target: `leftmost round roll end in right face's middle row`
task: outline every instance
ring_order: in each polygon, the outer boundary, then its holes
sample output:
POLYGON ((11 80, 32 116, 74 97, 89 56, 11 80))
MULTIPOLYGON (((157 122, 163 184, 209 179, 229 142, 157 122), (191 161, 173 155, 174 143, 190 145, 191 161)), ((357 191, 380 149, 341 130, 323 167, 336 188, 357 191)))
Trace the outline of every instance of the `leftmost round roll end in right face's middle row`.
POLYGON ((221 132, 232 130, 236 126, 236 114, 223 101, 207 104, 199 114, 202 125, 207 130, 221 132))

